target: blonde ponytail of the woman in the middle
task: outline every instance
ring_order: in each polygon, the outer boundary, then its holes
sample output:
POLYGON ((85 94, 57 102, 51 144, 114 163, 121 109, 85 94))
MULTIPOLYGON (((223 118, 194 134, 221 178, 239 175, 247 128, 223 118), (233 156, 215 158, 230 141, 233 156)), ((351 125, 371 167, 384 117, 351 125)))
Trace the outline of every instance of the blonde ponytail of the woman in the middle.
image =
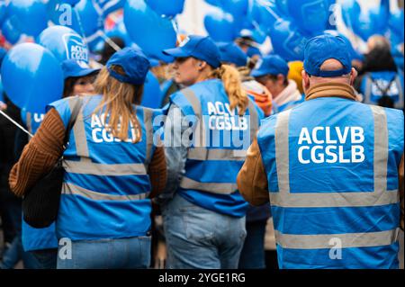
POLYGON ((242 88, 238 69, 229 65, 221 65, 214 69, 209 77, 216 77, 222 80, 225 92, 229 97, 230 109, 238 106, 239 115, 243 115, 246 112, 249 100, 242 88))

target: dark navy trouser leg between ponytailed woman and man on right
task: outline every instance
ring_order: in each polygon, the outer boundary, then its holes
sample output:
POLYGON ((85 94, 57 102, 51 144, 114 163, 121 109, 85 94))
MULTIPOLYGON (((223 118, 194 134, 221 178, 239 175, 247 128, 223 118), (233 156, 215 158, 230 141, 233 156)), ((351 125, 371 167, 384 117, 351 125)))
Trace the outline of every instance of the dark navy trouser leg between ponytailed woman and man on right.
POLYGON ((239 269, 265 269, 265 235, 267 220, 249 221, 247 238, 239 259, 239 269))

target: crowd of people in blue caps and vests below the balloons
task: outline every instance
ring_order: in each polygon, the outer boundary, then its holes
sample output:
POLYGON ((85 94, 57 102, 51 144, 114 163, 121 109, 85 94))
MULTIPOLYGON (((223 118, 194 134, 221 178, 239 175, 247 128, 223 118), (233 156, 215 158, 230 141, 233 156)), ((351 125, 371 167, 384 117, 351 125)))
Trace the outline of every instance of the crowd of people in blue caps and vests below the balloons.
POLYGON ((190 35, 151 65, 112 40, 64 61, 45 115, 0 102, 34 135, 0 115, 0 268, 403 268, 403 44, 354 58, 326 34, 287 62, 190 35), (58 219, 35 229, 22 198, 62 156, 58 219))

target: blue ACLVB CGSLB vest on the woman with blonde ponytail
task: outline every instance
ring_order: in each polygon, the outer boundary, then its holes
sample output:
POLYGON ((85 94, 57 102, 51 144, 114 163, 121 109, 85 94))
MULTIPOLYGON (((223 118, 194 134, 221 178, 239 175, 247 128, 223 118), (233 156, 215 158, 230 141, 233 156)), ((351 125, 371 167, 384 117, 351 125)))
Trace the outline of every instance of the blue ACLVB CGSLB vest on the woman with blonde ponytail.
POLYGON ((236 179, 263 112, 251 100, 244 116, 239 117, 237 109, 230 111, 228 95, 218 79, 185 88, 170 100, 193 129, 179 195, 207 210, 245 216, 247 202, 238 192, 236 179))

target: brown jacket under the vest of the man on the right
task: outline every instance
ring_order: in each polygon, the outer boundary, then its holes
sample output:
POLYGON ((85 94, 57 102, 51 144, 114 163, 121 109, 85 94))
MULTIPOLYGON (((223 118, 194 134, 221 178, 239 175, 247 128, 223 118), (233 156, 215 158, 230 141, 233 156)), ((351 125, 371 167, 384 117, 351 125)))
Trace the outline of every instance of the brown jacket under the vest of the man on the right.
MULTIPOLYGON (((307 93, 305 100, 319 97, 343 97, 355 100, 354 90, 349 85, 340 84, 320 84, 313 86, 307 93), (331 95, 333 94, 333 95, 331 95)), ((400 197, 401 197, 401 229, 404 227, 404 157, 402 155, 401 165, 399 168, 400 197)), ((265 166, 263 164, 260 149, 255 139, 247 150, 245 164, 238 174, 238 190, 247 202, 252 205, 262 205, 269 202, 268 183, 265 166)))

